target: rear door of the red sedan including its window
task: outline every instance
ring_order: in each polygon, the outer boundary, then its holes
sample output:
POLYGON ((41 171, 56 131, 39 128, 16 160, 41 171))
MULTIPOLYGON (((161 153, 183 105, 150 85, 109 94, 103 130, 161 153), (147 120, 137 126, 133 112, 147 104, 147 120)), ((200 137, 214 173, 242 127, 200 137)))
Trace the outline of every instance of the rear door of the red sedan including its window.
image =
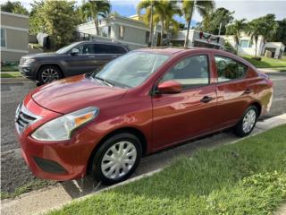
POLYGON ((252 100, 254 85, 246 78, 248 66, 228 56, 215 55, 218 127, 240 120, 252 100))

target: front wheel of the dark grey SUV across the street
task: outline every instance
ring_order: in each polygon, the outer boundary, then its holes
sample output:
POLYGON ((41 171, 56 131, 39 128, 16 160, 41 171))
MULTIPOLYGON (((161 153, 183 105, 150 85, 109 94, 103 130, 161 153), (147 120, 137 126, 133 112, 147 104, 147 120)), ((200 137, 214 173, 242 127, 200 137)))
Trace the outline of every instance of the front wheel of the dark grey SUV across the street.
POLYGON ((38 71, 39 84, 59 80, 63 77, 61 70, 54 65, 45 65, 38 71))

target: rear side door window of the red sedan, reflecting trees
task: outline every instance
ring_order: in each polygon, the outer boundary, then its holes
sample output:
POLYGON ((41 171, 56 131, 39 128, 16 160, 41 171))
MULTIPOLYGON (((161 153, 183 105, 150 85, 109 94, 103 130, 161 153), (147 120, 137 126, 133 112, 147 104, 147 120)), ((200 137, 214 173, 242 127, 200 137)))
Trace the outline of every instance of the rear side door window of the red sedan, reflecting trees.
POLYGON ((248 72, 248 67, 229 57, 214 56, 218 82, 228 82, 242 79, 248 72))

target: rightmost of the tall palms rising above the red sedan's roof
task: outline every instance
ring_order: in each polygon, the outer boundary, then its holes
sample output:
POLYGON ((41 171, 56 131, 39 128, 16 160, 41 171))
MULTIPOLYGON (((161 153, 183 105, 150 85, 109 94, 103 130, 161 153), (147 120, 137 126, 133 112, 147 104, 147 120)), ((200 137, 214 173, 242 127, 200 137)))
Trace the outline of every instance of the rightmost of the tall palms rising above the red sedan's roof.
POLYGON ((185 39, 184 47, 188 47, 189 40, 189 27, 193 12, 195 9, 203 17, 206 16, 210 11, 214 10, 214 1, 202 1, 202 0, 181 0, 181 12, 184 15, 186 22, 188 23, 187 35, 185 39))

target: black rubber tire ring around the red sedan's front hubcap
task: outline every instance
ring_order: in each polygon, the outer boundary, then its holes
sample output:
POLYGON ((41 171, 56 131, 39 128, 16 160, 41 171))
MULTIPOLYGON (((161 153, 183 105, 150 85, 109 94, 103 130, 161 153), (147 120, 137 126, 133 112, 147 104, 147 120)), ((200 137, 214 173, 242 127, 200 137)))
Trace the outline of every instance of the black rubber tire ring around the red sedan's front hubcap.
POLYGON ((105 185, 114 185, 116 183, 126 180, 129 176, 132 175, 132 173, 138 167, 141 157, 142 157, 142 146, 137 136, 131 133, 115 134, 111 138, 107 139, 97 150, 96 154, 94 155, 93 161, 92 161, 91 174, 97 181, 101 181, 105 185), (136 156, 133 166, 129 169, 129 172, 124 176, 120 176, 119 178, 114 179, 114 178, 105 176, 101 166, 102 166, 105 153, 108 150, 110 150, 114 145, 119 144, 119 142, 130 142, 131 144, 133 144, 136 149, 137 156, 136 156))

